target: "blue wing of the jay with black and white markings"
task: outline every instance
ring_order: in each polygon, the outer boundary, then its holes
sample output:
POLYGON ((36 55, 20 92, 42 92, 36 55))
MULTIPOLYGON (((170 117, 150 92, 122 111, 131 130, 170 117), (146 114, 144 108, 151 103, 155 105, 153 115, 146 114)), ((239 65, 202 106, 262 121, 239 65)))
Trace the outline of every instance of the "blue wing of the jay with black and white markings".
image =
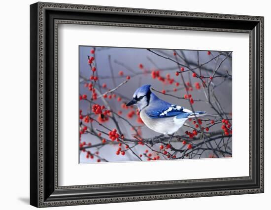
POLYGON ((146 110, 146 114, 150 118, 164 118, 174 116, 177 116, 177 118, 187 118, 193 113, 182 106, 163 103, 163 105, 160 107, 155 107, 146 110))

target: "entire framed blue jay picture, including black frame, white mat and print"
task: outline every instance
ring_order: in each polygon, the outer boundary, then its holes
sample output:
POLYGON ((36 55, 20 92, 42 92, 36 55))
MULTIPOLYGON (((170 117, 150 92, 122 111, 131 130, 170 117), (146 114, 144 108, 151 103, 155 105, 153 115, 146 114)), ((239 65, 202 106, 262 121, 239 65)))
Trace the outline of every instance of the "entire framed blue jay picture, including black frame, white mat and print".
POLYGON ((264 192, 264 18, 37 2, 35 207, 264 192))

